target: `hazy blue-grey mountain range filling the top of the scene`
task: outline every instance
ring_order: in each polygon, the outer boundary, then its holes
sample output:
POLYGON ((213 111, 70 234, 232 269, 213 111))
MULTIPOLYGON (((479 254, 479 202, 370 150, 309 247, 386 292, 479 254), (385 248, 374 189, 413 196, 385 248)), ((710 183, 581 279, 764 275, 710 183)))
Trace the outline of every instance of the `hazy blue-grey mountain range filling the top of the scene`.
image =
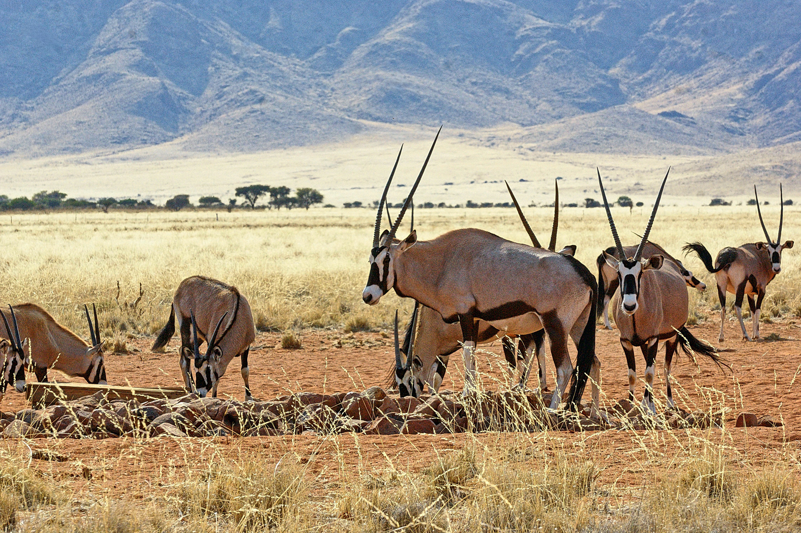
POLYGON ((0 0, 0 155, 395 123, 537 150, 801 140, 799 0, 0 0))

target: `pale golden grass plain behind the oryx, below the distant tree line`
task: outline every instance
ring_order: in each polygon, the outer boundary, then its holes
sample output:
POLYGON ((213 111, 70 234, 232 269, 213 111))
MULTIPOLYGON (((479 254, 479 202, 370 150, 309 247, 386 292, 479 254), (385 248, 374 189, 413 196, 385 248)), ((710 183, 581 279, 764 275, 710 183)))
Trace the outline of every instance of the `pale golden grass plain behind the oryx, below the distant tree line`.
MULTIPOLYGON (((525 212, 546 240, 551 210, 525 212)), ((513 209, 418 209, 416 215, 423 240, 463 227, 527 240, 513 209)), ((638 240, 632 232, 642 232, 648 215, 648 208, 614 209, 624 244, 638 240)), ((799 235, 798 215, 799 208, 785 209, 783 240, 799 235)), ((259 329, 386 328, 394 309, 408 305, 394 294, 374 307, 361 302, 374 216, 366 208, 239 211, 221 213, 219 220, 200 211, 14 215, 13 225, 10 217, 5 220, 0 301, 38 303, 81 334, 87 328, 82 305, 97 302, 103 337, 124 349, 127 335, 153 334, 163 326, 179 281, 203 274, 239 287, 259 329), (140 283, 143 297, 134 305, 140 283)), ((764 208, 764 216, 775 232, 778 206, 764 208)), ((689 240, 701 240, 714 255, 723 246, 762 237, 755 208, 736 206, 666 205, 651 233, 674 256, 689 240)), ((563 208, 558 244, 577 244, 578 259, 595 272, 596 256, 611 244, 603 210, 563 208)), ((801 315, 798 249, 784 252, 783 272, 768 286, 765 320, 801 315)), ((710 286, 704 294, 690 291, 690 319, 715 320, 714 277, 694 256, 685 264, 710 286)))

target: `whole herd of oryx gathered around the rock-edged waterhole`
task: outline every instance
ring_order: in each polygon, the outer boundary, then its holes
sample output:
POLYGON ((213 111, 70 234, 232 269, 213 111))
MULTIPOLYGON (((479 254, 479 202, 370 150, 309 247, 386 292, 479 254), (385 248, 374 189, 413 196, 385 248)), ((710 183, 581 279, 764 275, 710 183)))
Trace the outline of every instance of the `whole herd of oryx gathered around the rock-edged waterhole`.
MULTIPOLYGON (((610 314, 618 327, 620 343, 626 355, 630 401, 634 402, 637 382, 634 347, 645 358, 645 394, 642 405, 654 412, 655 359, 659 341, 665 345, 665 382, 667 405, 674 406, 670 386, 670 368, 678 347, 690 357, 702 355, 718 366, 725 363, 719 350, 694 337, 686 328, 689 313, 687 287, 705 290, 682 262, 664 248, 650 242, 648 236, 662 199, 668 173, 662 180, 650 220, 636 246, 624 247, 606 200, 601 172, 601 189, 614 246, 601 252, 596 261, 598 280, 590 269, 577 260, 576 246, 557 252, 559 189, 553 203, 553 227, 548 248, 534 235, 509 184, 517 213, 531 244, 520 244, 478 228, 461 228, 432 240, 417 240, 417 232, 400 240, 396 232, 406 211, 413 209, 414 193, 429 164, 439 132, 429 149, 417 180, 394 222, 381 232, 381 219, 387 193, 395 176, 400 154, 384 186, 378 204, 369 256, 370 271, 362 293, 364 303, 376 305, 385 293, 394 289, 400 297, 415 301, 411 320, 400 343, 397 313, 395 317, 395 364, 390 385, 401 396, 418 397, 428 386, 429 393, 439 390, 449 357, 461 348, 465 368, 463 394, 477 386, 475 349, 477 345, 500 340, 509 363, 514 389, 526 390, 531 367, 537 364, 537 391, 547 390, 544 341, 556 369, 556 383, 549 407, 576 410, 588 380, 592 388, 593 414, 598 414, 601 363, 595 353, 595 324, 603 317, 612 329, 610 314), (575 367, 570 358, 569 340, 577 350, 575 367), (519 367, 520 376, 514 374, 519 367), (570 387, 569 387, 570 386, 570 387)), ((402 147, 401 147, 402 151, 402 147)), ((779 232, 774 242, 768 235, 759 197, 754 188, 759 221, 767 242, 723 248, 712 261, 710 252, 699 242, 686 244, 685 252, 695 252, 706 269, 715 274, 721 304, 721 329, 726 317, 726 293, 735 294, 735 313, 748 341, 759 338, 759 313, 768 283, 781 271, 781 254, 792 248, 793 241, 781 243, 784 216, 779 217, 779 232), (753 317, 749 335, 741 313, 743 297, 748 297, 753 317)), ((414 217, 412 212, 412 220, 414 217)), ((389 218, 389 213, 387 212, 389 218)), ((44 309, 34 304, 9 306, 9 317, 0 309, 0 398, 10 383, 18 392, 25 389, 25 369, 30 368, 39 382, 47 381, 47 369, 82 377, 89 383, 106 385, 103 364, 103 341, 97 309, 83 309, 91 344, 59 325, 44 309), (94 317, 94 321, 92 318, 94 317)), ((252 400, 248 382, 248 353, 256 339, 256 328, 248 300, 231 285, 208 277, 193 276, 183 280, 172 300, 170 317, 156 338, 152 350, 163 349, 175 334, 175 321, 181 335, 179 366, 183 384, 200 397, 209 391, 216 397, 219 379, 235 357, 242 363, 245 399, 252 400), (205 353, 200 343, 206 342, 205 353), (194 366, 194 369, 192 368, 194 366)))

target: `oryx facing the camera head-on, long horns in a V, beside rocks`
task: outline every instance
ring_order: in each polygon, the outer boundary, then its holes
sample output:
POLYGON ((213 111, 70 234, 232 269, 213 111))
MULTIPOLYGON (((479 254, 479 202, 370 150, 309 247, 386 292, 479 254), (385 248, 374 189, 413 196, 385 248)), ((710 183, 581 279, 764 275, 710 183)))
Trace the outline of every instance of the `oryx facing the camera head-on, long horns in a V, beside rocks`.
MULTIPOLYGON (((667 172, 670 173, 670 168, 667 172)), ((612 254, 603 252, 606 264, 609 264, 610 268, 618 274, 618 290, 614 293, 611 306, 614 321, 620 331, 620 344, 623 352, 626 353, 626 362, 629 365, 629 400, 634 402, 634 383, 637 381, 634 346, 639 346, 646 359, 646 392, 642 398, 642 405, 654 413, 656 412, 652 390, 654 361, 660 340, 665 341, 665 382, 667 403, 670 408, 674 406, 673 391, 670 389, 670 364, 676 352, 676 345, 681 345, 684 352, 690 357, 693 352, 700 353, 709 357, 718 366, 721 365, 718 351, 693 337, 690 330, 686 328, 689 300, 686 282, 678 273, 678 269, 663 269, 665 258, 659 254, 654 254, 648 259, 642 257, 642 251, 648 241, 651 226, 654 224, 666 181, 667 174, 662 180, 662 188, 659 189, 656 202, 654 202, 654 211, 651 212, 646 231, 642 234, 642 240, 634 252, 634 256, 630 257, 626 255, 623 245, 620 244, 618 230, 614 227, 612 212, 606 201, 601 172, 598 171, 598 184, 601 186, 606 216, 609 218, 615 248, 618 252, 617 257, 623 258, 618 260, 612 254)))

